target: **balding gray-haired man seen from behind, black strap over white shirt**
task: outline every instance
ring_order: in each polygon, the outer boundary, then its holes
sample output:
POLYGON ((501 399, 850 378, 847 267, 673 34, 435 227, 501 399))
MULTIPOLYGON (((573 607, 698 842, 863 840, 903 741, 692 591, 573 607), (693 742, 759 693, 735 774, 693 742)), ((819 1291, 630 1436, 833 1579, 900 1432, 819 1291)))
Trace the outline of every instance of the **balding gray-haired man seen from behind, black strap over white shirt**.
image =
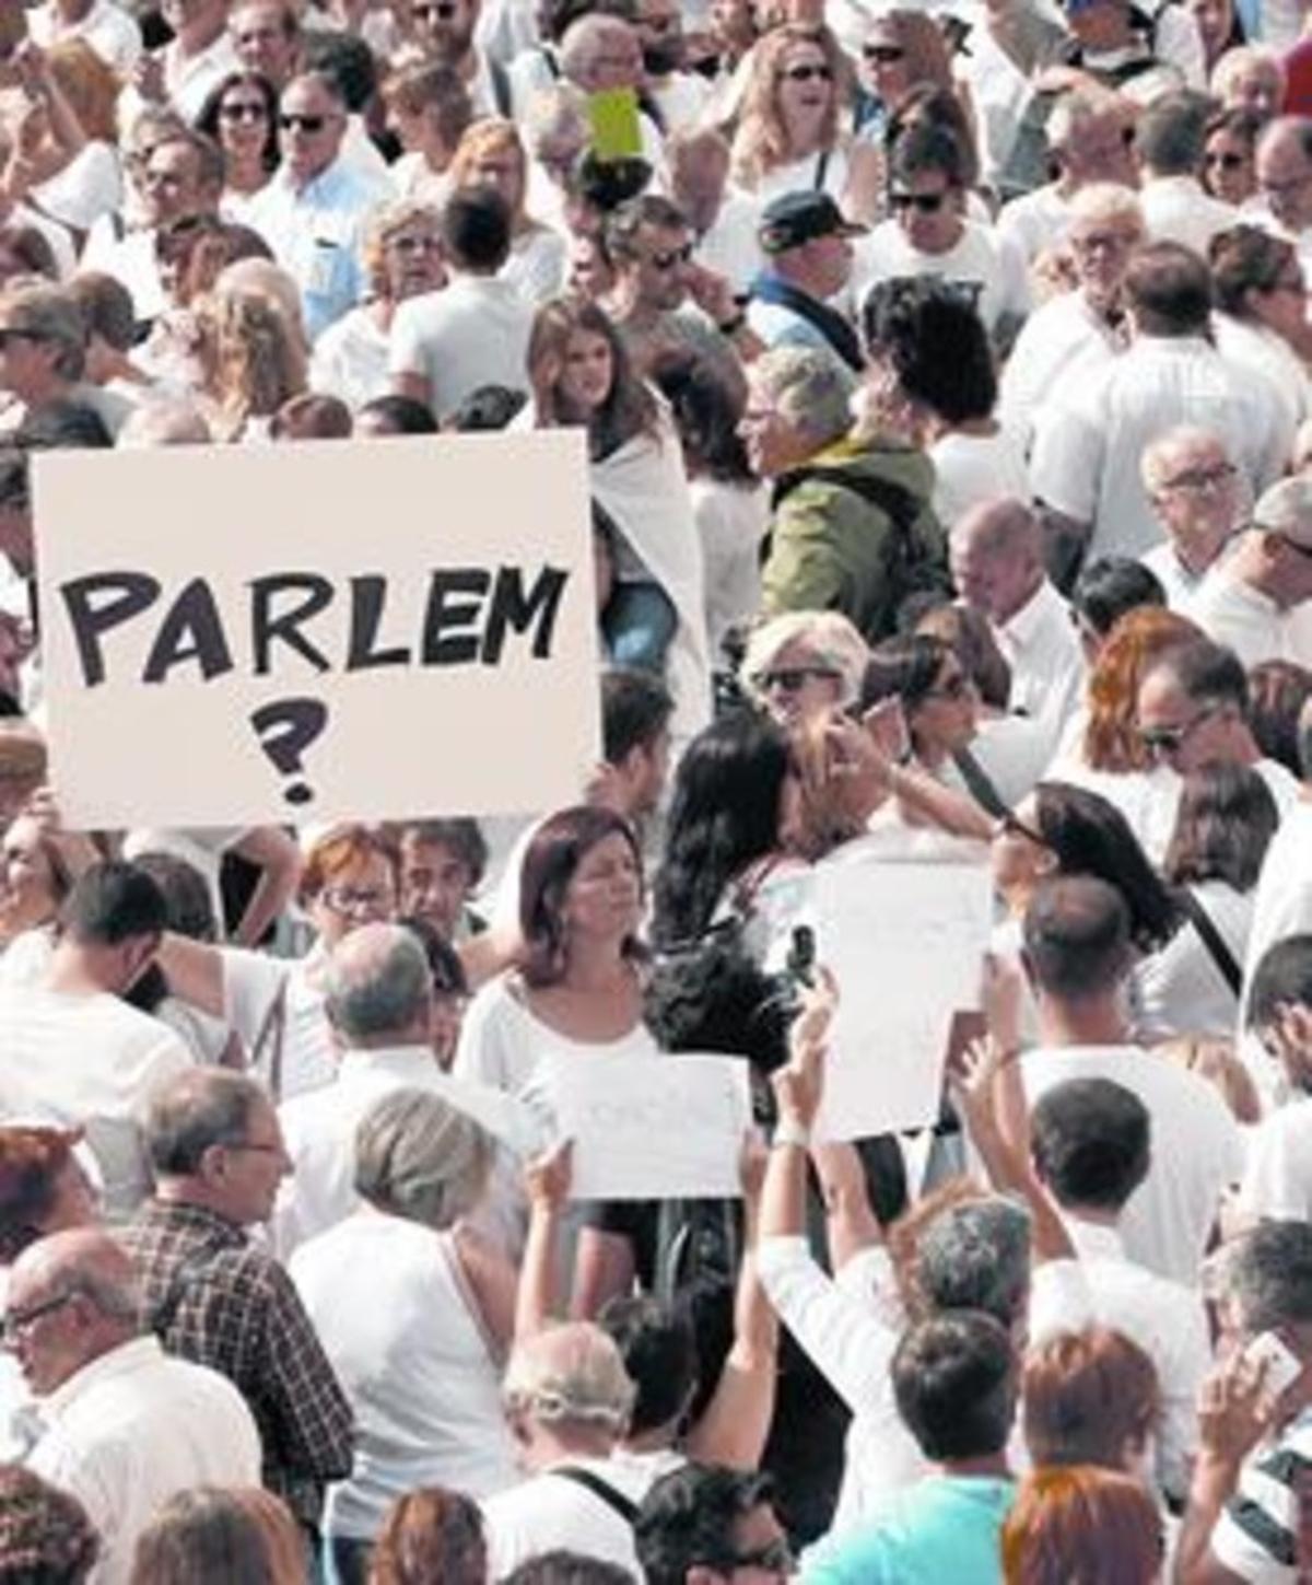
POLYGON ((556 1549, 642 1577, 632 1522, 651 1469, 613 1457, 634 1395, 618 1347, 591 1322, 547 1327, 515 1344, 502 1398, 529 1477, 483 1503, 490 1579, 556 1549))

